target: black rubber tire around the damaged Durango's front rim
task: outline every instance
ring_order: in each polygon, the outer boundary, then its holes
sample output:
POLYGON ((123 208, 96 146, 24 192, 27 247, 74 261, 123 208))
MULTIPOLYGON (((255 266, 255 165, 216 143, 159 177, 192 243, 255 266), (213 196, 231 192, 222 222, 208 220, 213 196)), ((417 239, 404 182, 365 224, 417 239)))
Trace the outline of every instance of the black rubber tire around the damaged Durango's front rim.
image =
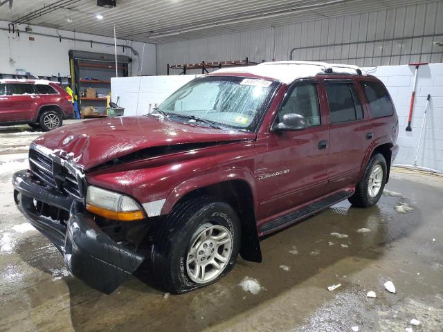
POLYGON ((237 213, 227 203, 215 201, 208 196, 179 203, 161 223, 154 237, 151 270, 154 273, 156 286, 163 291, 180 294, 217 282, 233 269, 237 261, 240 232, 237 213), (232 237, 232 252, 221 274, 209 282, 197 283, 188 275, 188 250, 196 241, 195 233, 201 230, 201 227, 205 227, 202 225, 208 223, 228 230, 232 237))

